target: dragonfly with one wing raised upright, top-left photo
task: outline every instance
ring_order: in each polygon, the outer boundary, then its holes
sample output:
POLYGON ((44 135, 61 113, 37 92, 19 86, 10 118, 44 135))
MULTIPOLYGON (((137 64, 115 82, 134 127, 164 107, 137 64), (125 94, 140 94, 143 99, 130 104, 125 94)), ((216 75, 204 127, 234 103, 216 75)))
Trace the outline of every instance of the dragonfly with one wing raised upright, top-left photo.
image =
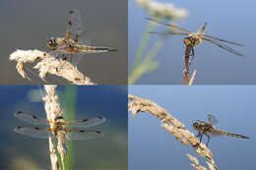
POLYGON ((86 40, 86 30, 83 28, 82 17, 79 11, 69 12, 70 21, 65 37, 51 37, 47 39, 49 52, 56 58, 62 58, 73 65, 78 65, 86 53, 102 53, 117 51, 109 47, 89 46, 86 40))

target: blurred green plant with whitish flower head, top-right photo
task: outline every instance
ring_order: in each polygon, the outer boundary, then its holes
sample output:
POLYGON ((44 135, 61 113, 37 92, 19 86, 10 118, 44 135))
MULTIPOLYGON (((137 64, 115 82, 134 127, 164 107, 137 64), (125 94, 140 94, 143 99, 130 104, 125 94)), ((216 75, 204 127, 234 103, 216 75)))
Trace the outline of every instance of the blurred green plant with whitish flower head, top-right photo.
MULTIPOLYGON (((175 8, 172 3, 160 3, 155 0, 135 1, 142 8, 146 9, 152 17, 160 20, 167 20, 170 22, 174 20, 182 20, 188 16, 188 12, 186 10, 175 8)), ((156 23, 149 22, 148 27, 143 34, 136 56, 134 57, 131 73, 129 74, 129 85, 135 84, 144 74, 154 72, 160 67, 160 63, 154 61, 154 58, 160 51, 166 35, 161 35, 150 51, 146 53, 146 48, 148 47, 151 38, 151 34, 149 32, 153 31, 156 27, 156 23)))

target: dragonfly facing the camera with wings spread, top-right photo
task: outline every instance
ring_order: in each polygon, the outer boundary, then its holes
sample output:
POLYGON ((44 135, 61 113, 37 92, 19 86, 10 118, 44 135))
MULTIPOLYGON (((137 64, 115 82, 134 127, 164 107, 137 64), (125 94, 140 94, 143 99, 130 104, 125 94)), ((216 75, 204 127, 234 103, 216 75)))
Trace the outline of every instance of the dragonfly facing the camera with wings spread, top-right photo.
MULTIPOLYGON (((230 47, 224 45, 223 43, 220 43, 219 41, 229 43, 229 44, 232 44, 232 45, 238 45, 238 46, 244 46, 244 45, 242 45, 240 43, 237 43, 237 42, 232 42, 232 41, 229 41, 229 40, 221 39, 219 37, 215 37, 215 36, 212 36, 212 35, 205 34, 206 28, 207 28, 207 25, 208 25, 207 23, 205 23, 201 28, 199 28, 197 32, 192 32, 192 31, 190 31, 186 28, 180 28, 180 27, 177 27, 177 26, 166 24, 164 22, 161 22, 158 19, 152 19, 152 18, 146 18, 146 19, 150 20, 150 21, 153 21, 153 22, 156 22, 160 25, 164 25, 164 26, 168 27, 170 29, 170 31, 167 32, 168 34, 184 35, 185 37, 183 39, 183 43, 186 46, 191 48, 190 56, 192 56, 192 60, 193 60, 194 54, 195 54, 194 47, 201 44, 203 42, 203 40, 208 41, 208 42, 210 42, 214 45, 217 45, 217 46, 223 48, 224 50, 226 50, 226 51, 228 51, 232 54, 235 54, 237 56, 241 56, 241 57, 244 56, 240 52, 234 50, 233 48, 230 48, 230 47)), ((151 33, 161 33, 162 34, 164 32, 151 31, 151 33)))

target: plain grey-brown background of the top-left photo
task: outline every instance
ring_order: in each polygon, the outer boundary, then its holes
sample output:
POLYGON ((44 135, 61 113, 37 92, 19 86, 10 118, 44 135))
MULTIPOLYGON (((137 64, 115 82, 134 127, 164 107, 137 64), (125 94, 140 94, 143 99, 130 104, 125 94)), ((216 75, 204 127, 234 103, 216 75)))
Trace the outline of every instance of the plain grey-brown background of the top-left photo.
MULTIPOLYGON (((98 85, 127 84, 128 17, 127 1, 84 0, 1 0, 0 20, 0 84, 45 84, 37 77, 24 80, 16 71, 16 63, 9 55, 17 49, 48 50, 47 38, 63 36, 71 9, 82 14, 87 39, 92 45, 108 46, 117 52, 87 54, 78 65, 79 71, 98 85)), ((36 74, 36 72, 35 72, 36 74)), ((46 79, 48 84, 66 84, 56 78, 46 79)))

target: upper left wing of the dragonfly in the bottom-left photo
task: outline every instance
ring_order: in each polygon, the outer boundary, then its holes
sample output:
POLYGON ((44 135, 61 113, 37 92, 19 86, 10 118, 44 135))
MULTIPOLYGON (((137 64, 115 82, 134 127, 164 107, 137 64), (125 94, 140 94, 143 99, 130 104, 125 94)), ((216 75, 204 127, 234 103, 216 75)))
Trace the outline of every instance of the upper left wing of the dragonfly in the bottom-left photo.
POLYGON ((24 113, 22 111, 16 112, 14 116, 32 125, 49 126, 49 122, 47 121, 47 119, 24 113))

